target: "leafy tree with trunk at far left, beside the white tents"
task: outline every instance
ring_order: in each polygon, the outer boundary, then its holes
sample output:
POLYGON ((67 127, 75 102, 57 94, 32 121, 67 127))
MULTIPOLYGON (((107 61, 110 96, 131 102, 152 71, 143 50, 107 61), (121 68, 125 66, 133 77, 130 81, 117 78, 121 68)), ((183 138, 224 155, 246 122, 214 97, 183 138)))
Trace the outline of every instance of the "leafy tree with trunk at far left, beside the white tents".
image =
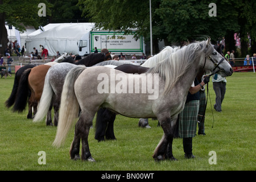
POLYGON ((26 26, 39 27, 45 18, 38 15, 39 3, 46 4, 46 13, 51 15, 50 7, 52 6, 46 0, 0 0, 0 53, 4 53, 7 47, 7 30, 5 22, 16 27, 19 31, 24 31, 26 26))

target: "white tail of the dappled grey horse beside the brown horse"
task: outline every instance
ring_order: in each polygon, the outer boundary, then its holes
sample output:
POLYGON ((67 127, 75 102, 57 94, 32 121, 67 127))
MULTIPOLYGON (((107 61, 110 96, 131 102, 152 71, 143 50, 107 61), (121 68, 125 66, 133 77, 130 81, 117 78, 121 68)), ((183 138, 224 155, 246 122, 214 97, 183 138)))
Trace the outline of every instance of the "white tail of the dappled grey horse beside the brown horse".
POLYGON ((43 93, 38 105, 38 111, 34 115, 33 122, 41 121, 44 118, 44 116, 47 114, 47 111, 49 110, 49 106, 51 105, 52 94, 53 94, 53 90, 49 82, 49 74, 46 74, 46 78, 44 80, 43 93))

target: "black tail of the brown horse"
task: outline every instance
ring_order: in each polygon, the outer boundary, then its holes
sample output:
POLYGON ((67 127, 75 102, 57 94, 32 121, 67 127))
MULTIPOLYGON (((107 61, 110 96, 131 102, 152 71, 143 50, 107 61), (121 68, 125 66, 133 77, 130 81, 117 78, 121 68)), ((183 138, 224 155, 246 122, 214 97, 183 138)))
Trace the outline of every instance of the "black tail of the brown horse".
POLYGON ((13 111, 22 113, 26 109, 30 88, 28 86, 28 76, 30 75, 31 68, 26 69, 19 79, 18 91, 16 100, 13 106, 13 111))

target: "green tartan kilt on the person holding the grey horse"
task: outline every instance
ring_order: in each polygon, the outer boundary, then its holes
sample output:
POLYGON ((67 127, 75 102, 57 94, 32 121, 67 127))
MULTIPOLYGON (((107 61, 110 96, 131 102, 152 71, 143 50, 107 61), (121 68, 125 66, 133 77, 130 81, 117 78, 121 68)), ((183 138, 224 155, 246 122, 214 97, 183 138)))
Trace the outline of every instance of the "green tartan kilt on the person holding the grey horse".
POLYGON ((185 104, 183 111, 181 111, 179 115, 179 137, 195 137, 199 102, 199 100, 189 101, 185 104))

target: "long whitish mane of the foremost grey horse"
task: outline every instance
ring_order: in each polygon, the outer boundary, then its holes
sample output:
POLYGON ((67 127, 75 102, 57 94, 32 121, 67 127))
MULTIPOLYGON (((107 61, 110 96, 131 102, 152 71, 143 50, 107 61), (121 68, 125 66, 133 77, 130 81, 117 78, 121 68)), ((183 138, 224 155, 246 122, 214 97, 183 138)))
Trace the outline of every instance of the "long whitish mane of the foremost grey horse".
MULTIPOLYGON (((172 53, 163 61, 160 61, 155 67, 150 68, 147 73, 158 73, 166 81, 164 93, 168 93, 174 87, 183 75, 191 68, 196 59, 200 59, 202 53, 205 56, 213 53, 212 44, 207 46, 207 41, 188 44, 188 46, 172 47, 172 53)), ((162 51, 159 54, 170 51, 162 51)), ((160 56, 160 55, 159 55, 160 56)), ((155 57, 155 56, 154 56, 155 57)))

